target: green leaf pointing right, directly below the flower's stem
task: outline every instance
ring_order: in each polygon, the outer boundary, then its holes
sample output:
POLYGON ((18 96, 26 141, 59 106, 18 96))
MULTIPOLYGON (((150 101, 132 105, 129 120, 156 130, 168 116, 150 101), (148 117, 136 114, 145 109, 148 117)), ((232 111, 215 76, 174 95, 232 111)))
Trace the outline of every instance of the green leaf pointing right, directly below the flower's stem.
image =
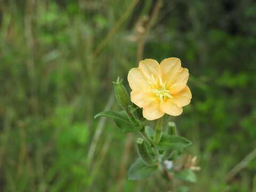
POLYGON ((161 141, 156 146, 158 150, 180 150, 191 145, 191 141, 174 135, 162 135, 161 141))

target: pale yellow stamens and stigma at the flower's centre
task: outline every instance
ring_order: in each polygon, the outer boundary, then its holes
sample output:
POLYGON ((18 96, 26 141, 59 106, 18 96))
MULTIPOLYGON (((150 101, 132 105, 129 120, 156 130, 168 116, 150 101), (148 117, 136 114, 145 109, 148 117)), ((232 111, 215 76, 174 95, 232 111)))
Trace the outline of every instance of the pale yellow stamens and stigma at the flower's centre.
POLYGON ((160 100, 161 104, 163 103, 164 100, 167 98, 172 98, 172 95, 170 95, 170 91, 166 89, 165 84, 166 82, 163 83, 162 78, 158 76, 157 79, 153 75, 151 75, 152 82, 151 85, 154 87, 157 87, 158 89, 151 89, 150 92, 154 93, 160 100))

